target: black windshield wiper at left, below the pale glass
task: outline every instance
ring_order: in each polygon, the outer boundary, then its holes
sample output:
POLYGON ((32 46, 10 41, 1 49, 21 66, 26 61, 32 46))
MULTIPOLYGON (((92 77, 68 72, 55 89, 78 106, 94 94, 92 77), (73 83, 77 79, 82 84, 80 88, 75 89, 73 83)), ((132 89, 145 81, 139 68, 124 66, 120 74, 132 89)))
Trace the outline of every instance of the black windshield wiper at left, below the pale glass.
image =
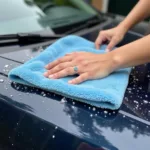
POLYGON ((64 35, 42 35, 32 33, 6 34, 0 35, 0 46, 7 46, 13 43, 20 45, 39 43, 49 40, 56 40, 62 38, 63 36, 64 35))

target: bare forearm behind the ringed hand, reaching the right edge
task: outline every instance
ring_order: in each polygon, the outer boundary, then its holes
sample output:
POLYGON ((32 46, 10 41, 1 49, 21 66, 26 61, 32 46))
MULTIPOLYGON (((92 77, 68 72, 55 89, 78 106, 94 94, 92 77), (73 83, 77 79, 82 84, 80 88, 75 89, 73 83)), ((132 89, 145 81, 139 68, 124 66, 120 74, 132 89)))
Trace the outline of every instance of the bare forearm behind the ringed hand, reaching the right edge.
POLYGON ((110 52, 117 69, 150 62, 150 35, 110 52))

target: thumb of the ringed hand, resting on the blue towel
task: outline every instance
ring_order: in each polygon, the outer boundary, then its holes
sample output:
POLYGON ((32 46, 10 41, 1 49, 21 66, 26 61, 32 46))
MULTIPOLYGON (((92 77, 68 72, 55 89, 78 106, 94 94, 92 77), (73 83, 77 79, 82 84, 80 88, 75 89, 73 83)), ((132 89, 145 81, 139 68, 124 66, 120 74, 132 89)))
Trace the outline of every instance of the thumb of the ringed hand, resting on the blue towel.
POLYGON ((89 74, 88 73, 83 73, 80 76, 78 76, 77 78, 69 81, 69 83, 70 84, 79 84, 79 83, 84 82, 88 79, 89 79, 89 74))

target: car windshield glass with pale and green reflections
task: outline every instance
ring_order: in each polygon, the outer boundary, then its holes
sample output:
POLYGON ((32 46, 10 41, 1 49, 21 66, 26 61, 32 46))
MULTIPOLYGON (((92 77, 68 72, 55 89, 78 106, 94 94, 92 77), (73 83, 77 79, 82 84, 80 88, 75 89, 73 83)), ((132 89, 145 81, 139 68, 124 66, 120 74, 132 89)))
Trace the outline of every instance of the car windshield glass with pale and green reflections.
MULTIPOLYGON (((0 34, 58 32, 98 15, 83 0, 1 0, 0 34)), ((69 30, 69 29, 68 29, 69 30)))

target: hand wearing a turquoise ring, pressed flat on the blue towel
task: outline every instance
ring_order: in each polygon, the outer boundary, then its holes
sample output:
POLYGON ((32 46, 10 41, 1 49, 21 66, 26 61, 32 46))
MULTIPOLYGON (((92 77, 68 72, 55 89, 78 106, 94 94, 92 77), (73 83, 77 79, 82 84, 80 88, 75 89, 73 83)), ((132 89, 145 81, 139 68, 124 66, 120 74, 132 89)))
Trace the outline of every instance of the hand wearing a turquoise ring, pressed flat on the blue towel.
POLYGON ((116 66, 111 53, 74 52, 48 64, 46 69, 44 76, 51 79, 78 74, 79 76, 69 83, 79 84, 86 80, 106 77, 116 66))

